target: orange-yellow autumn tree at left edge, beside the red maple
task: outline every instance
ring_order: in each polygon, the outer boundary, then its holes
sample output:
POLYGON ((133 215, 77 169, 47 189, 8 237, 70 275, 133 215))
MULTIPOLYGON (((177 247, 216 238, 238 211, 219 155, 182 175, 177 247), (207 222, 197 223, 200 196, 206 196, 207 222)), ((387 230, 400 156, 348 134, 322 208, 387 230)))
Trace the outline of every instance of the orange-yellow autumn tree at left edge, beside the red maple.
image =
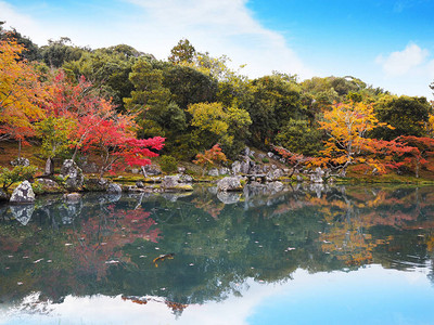
POLYGON ((35 134, 34 122, 44 116, 48 96, 34 66, 20 57, 24 47, 0 41, 0 141, 35 134))

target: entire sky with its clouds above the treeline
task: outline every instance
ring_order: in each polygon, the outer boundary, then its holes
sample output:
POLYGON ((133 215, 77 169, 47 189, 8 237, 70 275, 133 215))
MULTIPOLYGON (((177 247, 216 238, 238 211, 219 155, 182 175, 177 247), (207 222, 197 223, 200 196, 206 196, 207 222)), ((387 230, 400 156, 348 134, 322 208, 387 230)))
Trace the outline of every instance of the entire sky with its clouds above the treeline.
POLYGON ((0 20, 42 46, 127 43, 166 58, 181 38, 258 77, 354 76, 433 100, 434 0, 0 0, 0 20))

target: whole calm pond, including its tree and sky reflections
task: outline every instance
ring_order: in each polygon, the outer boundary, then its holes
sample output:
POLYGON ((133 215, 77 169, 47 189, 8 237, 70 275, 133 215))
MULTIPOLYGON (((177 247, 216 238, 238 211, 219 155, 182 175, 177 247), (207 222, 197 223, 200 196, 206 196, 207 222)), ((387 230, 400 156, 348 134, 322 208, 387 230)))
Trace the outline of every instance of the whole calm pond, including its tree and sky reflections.
POLYGON ((0 324, 433 324, 434 187, 0 206, 0 324))

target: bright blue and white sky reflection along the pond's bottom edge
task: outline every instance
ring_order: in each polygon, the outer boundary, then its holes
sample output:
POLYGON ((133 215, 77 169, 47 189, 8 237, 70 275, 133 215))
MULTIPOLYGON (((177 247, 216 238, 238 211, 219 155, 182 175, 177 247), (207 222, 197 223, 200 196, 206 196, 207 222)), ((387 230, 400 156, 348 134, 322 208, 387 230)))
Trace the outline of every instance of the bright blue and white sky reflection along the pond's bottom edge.
POLYGON ((179 317, 158 301, 68 296, 61 304, 46 306, 49 315, 17 315, 23 304, 3 306, 0 324, 433 324, 434 288, 427 272, 380 265, 348 273, 297 270, 281 284, 247 280, 241 285, 243 297, 189 306, 179 317))

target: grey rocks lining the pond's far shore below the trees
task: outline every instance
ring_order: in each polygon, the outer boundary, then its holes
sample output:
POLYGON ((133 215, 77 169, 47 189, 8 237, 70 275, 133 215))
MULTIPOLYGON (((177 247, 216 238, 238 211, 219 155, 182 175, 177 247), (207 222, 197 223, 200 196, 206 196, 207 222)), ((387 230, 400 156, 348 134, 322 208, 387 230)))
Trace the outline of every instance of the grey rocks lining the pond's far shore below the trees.
MULTIPOLYGON (((278 165, 284 162, 284 159, 272 153, 254 155, 255 153, 246 147, 240 159, 233 161, 228 167, 213 168, 208 171, 210 177, 222 177, 217 182, 217 192, 237 192, 242 191, 246 184, 269 191, 282 191, 285 185, 282 181, 291 181, 290 170, 279 168, 278 165), (264 164, 260 160, 271 161, 264 164), (273 164, 275 162, 275 164, 273 164)), ((84 171, 74 160, 64 161, 61 173, 54 178, 40 178, 33 184, 28 181, 21 183, 10 197, 11 203, 26 204, 35 200, 36 194, 46 193, 78 193, 78 192, 106 192, 108 194, 120 194, 122 192, 189 192, 193 191, 192 184, 195 180, 184 173, 183 168, 179 168, 179 173, 175 176, 162 176, 158 166, 150 165, 142 167, 141 170, 133 170, 133 173, 142 173, 146 179, 137 181, 135 185, 119 185, 105 179, 87 179, 84 171), (146 180, 146 182, 144 182, 146 180), (150 183, 153 182, 153 183, 150 183)), ((323 183, 329 178, 327 170, 317 168, 314 171, 303 174, 295 174, 297 182, 323 183)), ((224 194, 220 194, 220 196, 224 194)), ((8 195, 0 191, 0 200, 8 200, 8 195)), ((72 199, 72 197, 71 197, 72 199)))

